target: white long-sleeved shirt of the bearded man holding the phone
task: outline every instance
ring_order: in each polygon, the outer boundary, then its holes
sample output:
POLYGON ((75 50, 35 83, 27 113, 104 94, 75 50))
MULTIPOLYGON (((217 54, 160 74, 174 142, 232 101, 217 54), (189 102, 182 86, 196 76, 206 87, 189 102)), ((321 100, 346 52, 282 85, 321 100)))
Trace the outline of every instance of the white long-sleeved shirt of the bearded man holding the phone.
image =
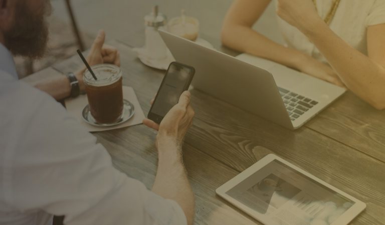
POLYGON ((186 224, 180 206, 112 165, 65 108, 19 81, 0 44, 0 224, 186 224))

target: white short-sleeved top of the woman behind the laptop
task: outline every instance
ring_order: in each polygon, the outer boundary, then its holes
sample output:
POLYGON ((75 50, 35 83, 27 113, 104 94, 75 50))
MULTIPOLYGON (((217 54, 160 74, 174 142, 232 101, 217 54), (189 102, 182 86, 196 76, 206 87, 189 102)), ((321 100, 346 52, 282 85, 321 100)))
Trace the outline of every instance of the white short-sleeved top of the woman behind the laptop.
MULTIPOLYGON (((325 18, 333 0, 316 2, 318 14, 325 18)), ((318 48, 302 32, 277 17, 287 46, 327 63, 318 48)), ((341 0, 329 27, 350 46, 367 55, 366 28, 381 23, 385 23, 385 0, 341 0)))

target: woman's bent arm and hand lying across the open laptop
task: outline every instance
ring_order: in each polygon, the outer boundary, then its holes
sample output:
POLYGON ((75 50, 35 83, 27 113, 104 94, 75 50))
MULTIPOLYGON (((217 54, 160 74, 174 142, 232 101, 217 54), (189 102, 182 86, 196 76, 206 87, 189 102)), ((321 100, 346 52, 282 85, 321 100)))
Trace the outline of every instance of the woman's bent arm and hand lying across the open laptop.
POLYGON ((222 28, 222 43, 238 51, 276 61, 309 75, 343 86, 329 66, 296 49, 285 47, 252 29, 271 0, 236 0, 222 28))

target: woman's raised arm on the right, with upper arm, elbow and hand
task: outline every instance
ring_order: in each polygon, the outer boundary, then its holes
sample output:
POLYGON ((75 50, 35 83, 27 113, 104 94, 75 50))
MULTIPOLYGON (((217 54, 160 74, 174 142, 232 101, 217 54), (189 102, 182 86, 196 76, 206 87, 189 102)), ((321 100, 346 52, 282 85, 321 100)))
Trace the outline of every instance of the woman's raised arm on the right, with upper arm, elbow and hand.
POLYGON ((345 85, 375 108, 384 109, 385 24, 367 28, 366 56, 336 35, 314 12, 309 0, 279 0, 278 15, 317 46, 345 85))

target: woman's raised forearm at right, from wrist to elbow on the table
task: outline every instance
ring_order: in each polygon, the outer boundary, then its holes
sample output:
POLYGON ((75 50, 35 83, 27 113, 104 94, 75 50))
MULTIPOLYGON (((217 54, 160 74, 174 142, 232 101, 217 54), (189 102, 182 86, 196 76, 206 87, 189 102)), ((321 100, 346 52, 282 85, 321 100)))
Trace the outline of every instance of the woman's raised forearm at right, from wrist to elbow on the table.
POLYGON ((385 108, 385 68, 348 45, 323 21, 300 30, 317 46, 345 85, 362 99, 385 108))

